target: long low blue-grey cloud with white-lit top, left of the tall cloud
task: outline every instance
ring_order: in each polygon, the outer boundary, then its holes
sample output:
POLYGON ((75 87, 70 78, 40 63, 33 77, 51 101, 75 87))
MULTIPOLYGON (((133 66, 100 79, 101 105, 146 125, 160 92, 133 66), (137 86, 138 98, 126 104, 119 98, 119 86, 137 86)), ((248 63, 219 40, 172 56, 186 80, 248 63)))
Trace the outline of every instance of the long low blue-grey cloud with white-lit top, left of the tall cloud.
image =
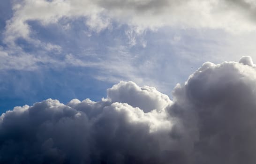
MULTIPOLYGON (((137 86, 130 87, 137 89, 137 86)), ((47 99, 2 114, 0 161, 164 163, 169 158, 165 152, 173 149, 172 142, 164 142, 171 127, 164 110, 145 113, 110 100, 74 99, 64 105, 47 99)))

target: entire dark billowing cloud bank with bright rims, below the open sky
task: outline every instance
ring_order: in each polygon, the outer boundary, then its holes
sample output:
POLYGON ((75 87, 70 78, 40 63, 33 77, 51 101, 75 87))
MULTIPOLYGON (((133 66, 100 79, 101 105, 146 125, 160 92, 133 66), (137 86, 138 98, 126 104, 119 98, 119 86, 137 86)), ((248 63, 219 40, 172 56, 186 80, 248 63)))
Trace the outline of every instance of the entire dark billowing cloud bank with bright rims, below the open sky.
POLYGON ((0 117, 0 163, 255 164, 252 59, 206 62, 173 89, 120 82, 107 97, 47 99, 0 117))

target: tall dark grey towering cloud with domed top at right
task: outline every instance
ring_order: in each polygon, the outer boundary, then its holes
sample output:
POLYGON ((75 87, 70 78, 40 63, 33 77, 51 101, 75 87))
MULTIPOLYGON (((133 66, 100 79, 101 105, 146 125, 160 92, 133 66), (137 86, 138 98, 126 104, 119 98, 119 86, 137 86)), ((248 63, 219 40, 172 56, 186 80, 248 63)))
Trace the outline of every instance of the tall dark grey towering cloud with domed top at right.
POLYGON ((248 56, 239 63, 204 63, 174 89, 171 115, 197 138, 194 163, 255 163, 256 70, 248 63, 248 56))

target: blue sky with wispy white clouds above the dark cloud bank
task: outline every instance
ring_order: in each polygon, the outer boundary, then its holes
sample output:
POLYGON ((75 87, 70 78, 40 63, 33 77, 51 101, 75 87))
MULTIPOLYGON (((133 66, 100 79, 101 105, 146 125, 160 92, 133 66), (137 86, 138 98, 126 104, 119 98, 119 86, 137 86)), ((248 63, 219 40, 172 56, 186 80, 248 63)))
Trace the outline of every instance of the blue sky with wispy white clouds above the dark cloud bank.
POLYGON ((172 97, 204 62, 254 57, 253 1, 1 0, 0 110, 98 101, 120 81, 172 97))

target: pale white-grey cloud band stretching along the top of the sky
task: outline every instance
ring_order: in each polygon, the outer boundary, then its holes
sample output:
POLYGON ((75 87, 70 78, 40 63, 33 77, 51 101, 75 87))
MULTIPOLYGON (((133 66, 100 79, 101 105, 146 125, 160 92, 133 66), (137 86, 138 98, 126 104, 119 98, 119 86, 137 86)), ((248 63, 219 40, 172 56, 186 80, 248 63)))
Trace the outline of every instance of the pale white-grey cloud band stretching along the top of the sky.
POLYGON ((87 18, 91 30, 99 32, 111 22, 128 24, 140 33, 163 26, 221 28, 228 31, 255 30, 252 0, 22 0, 14 1, 13 17, 7 21, 7 43, 29 38, 31 20, 42 24, 61 18, 87 18))

